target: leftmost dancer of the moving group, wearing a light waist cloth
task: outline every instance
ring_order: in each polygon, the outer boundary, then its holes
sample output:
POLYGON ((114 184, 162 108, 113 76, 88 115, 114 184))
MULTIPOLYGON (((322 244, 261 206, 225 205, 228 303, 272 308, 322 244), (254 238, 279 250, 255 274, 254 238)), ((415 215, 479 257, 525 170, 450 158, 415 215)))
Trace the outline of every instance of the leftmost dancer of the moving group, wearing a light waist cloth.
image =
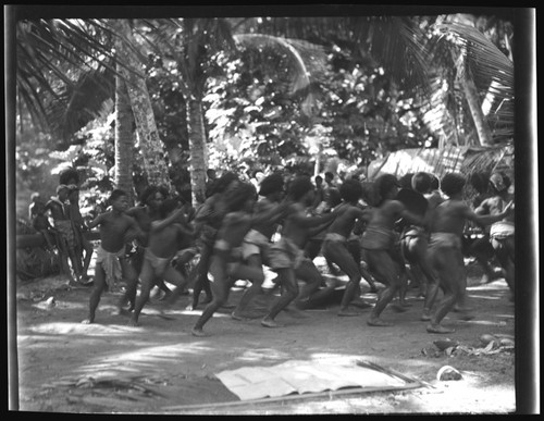
POLYGON ((144 232, 136 221, 125 212, 128 208, 128 196, 121 189, 114 189, 109 198, 111 210, 99 214, 88 228, 99 226, 100 246, 97 250, 95 265, 95 285, 89 299, 89 315, 82 323, 95 322, 95 312, 104 290, 113 286, 115 280, 123 277, 134 278, 133 267, 125 258, 126 243, 132 237, 143 237, 144 232))

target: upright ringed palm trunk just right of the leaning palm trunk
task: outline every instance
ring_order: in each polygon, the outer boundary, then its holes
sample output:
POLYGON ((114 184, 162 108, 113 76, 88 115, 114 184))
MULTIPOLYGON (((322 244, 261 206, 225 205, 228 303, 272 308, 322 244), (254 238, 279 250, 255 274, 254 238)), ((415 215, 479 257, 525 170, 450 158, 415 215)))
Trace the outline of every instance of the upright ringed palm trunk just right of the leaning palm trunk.
POLYGON ((202 119, 202 102, 195 97, 187 101, 187 122, 190 148, 190 185, 193 190, 193 206, 206 200, 206 170, 208 154, 202 119))

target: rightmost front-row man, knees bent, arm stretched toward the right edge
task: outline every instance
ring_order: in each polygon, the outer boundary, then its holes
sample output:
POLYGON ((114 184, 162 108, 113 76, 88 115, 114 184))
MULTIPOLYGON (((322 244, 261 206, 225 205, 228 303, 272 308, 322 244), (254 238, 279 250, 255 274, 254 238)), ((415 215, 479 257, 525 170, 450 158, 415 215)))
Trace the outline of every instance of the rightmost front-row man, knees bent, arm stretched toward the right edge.
POLYGON ((494 215, 478 215, 462 200, 466 179, 461 174, 448 173, 442 178, 442 191, 448 197, 434 211, 429 240, 429 262, 436 271, 444 297, 431 315, 426 326, 429 333, 453 333, 455 330, 441 325, 444 317, 466 294, 467 273, 461 251, 461 236, 467 221, 489 225, 500 221, 512 212, 512 205, 494 215))

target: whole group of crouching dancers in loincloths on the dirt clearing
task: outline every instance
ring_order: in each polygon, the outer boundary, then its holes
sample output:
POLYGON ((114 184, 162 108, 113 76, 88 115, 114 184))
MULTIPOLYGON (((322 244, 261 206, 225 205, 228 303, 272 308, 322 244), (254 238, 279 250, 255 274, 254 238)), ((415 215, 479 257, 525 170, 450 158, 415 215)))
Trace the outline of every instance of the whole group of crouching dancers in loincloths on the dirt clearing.
POLYGON ((444 326, 443 319, 454 308, 467 310, 461 238, 468 221, 491 227, 490 243, 514 294, 514 200, 504 174, 492 174, 489 198, 475 209, 463 200, 467 179, 459 173, 447 173, 438 182, 418 172, 405 187, 392 174, 371 183, 348 178, 323 196, 314 181, 276 172, 257 184, 225 172, 196 209, 157 186, 149 186, 140 203, 129 208, 127 194, 114 189, 109 210, 87 225, 98 227, 100 246, 84 323, 95 322, 102 293, 123 278, 126 287, 119 310, 129 315, 131 325, 138 324, 156 286, 166 293, 166 309, 189 286, 196 308, 203 290, 206 307, 191 334, 206 336, 206 323, 226 305, 239 280, 249 287, 232 318, 248 318, 249 304, 262 293, 267 267, 275 272, 280 293, 260 324, 279 327, 280 312, 304 311, 337 288, 338 283, 325 281, 313 262, 321 255, 331 269, 348 277, 338 317, 361 314, 351 308, 364 306, 364 280, 378 294, 376 302, 367 305, 372 307, 367 324, 391 325, 382 313, 395 297, 399 306, 406 304, 411 280, 422 288, 426 331, 450 333, 454 330, 444 326), (128 253, 127 245, 134 245, 128 253), (188 270, 196 257, 198 263, 188 270), (378 290, 375 282, 384 288, 378 290))

